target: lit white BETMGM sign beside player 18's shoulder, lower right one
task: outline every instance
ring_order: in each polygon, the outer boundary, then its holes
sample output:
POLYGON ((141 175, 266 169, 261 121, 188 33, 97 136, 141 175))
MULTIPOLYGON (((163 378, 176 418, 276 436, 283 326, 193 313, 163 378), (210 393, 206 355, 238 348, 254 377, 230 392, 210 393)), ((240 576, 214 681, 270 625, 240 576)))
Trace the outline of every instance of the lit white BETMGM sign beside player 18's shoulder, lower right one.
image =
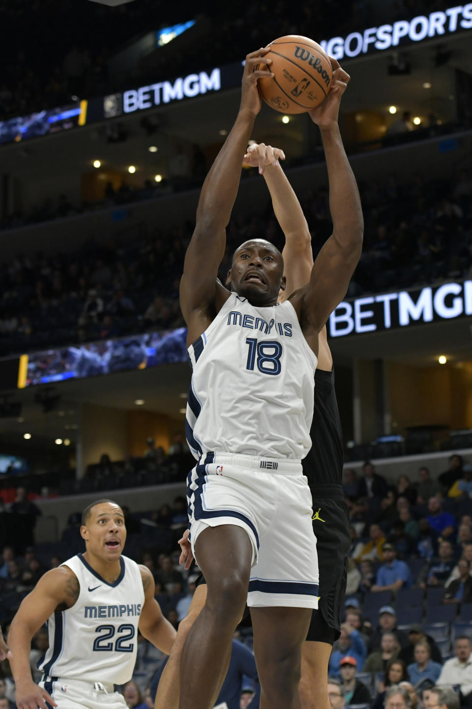
POLYGON ((343 301, 331 313, 329 333, 345 337, 465 316, 472 316, 472 281, 343 301))

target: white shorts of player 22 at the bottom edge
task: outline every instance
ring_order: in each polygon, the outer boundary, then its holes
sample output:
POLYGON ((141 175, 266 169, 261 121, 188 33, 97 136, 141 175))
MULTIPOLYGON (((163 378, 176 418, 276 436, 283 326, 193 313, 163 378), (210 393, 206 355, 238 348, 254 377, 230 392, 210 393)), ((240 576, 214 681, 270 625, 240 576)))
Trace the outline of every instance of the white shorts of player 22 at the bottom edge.
MULTIPOLYGON (((57 703, 57 709, 127 709, 125 697, 115 692, 113 684, 86 682, 67 677, 47 678, 38 682, 57 703)), ((50 709, 52 706, 47 704, 50 709)))

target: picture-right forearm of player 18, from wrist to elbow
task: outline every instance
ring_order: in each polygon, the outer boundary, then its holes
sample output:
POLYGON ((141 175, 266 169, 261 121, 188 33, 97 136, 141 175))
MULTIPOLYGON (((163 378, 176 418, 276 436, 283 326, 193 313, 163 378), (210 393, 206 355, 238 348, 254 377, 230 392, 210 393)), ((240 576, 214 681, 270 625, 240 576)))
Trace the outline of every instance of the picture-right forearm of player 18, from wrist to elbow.
POLYGON ((321 128, 329 178, 333 237, 344 249, 362 244, 364 218, 359 190, 344 149, 338 124, 321 128))

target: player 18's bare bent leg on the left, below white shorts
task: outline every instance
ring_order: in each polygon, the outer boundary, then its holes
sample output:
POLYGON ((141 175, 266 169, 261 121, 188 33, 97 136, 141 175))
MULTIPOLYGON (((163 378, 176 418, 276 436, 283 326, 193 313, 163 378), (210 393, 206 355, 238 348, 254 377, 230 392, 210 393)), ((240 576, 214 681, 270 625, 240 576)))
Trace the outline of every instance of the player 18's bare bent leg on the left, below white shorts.
POLYGON ((233 633, 246 605, 254 553, 248 532, 236 525, 206 527, 194 544, 207 581, 207 600, 183 647, 180 709, 214 705, 231 656, 233 633))

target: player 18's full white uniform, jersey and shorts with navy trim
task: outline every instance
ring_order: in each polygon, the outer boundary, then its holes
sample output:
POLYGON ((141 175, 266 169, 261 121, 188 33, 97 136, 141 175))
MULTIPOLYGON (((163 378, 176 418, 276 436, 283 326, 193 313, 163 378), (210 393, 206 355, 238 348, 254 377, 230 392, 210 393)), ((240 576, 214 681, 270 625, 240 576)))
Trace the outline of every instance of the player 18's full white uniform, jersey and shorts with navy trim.
POLYGON ((311 493, 316 356, 286 301, 267 308, 231 293, 188 348, 185 429, 190 541, 207 526, 243 527, 253 545, 248 605, 318 607, 311 493))

